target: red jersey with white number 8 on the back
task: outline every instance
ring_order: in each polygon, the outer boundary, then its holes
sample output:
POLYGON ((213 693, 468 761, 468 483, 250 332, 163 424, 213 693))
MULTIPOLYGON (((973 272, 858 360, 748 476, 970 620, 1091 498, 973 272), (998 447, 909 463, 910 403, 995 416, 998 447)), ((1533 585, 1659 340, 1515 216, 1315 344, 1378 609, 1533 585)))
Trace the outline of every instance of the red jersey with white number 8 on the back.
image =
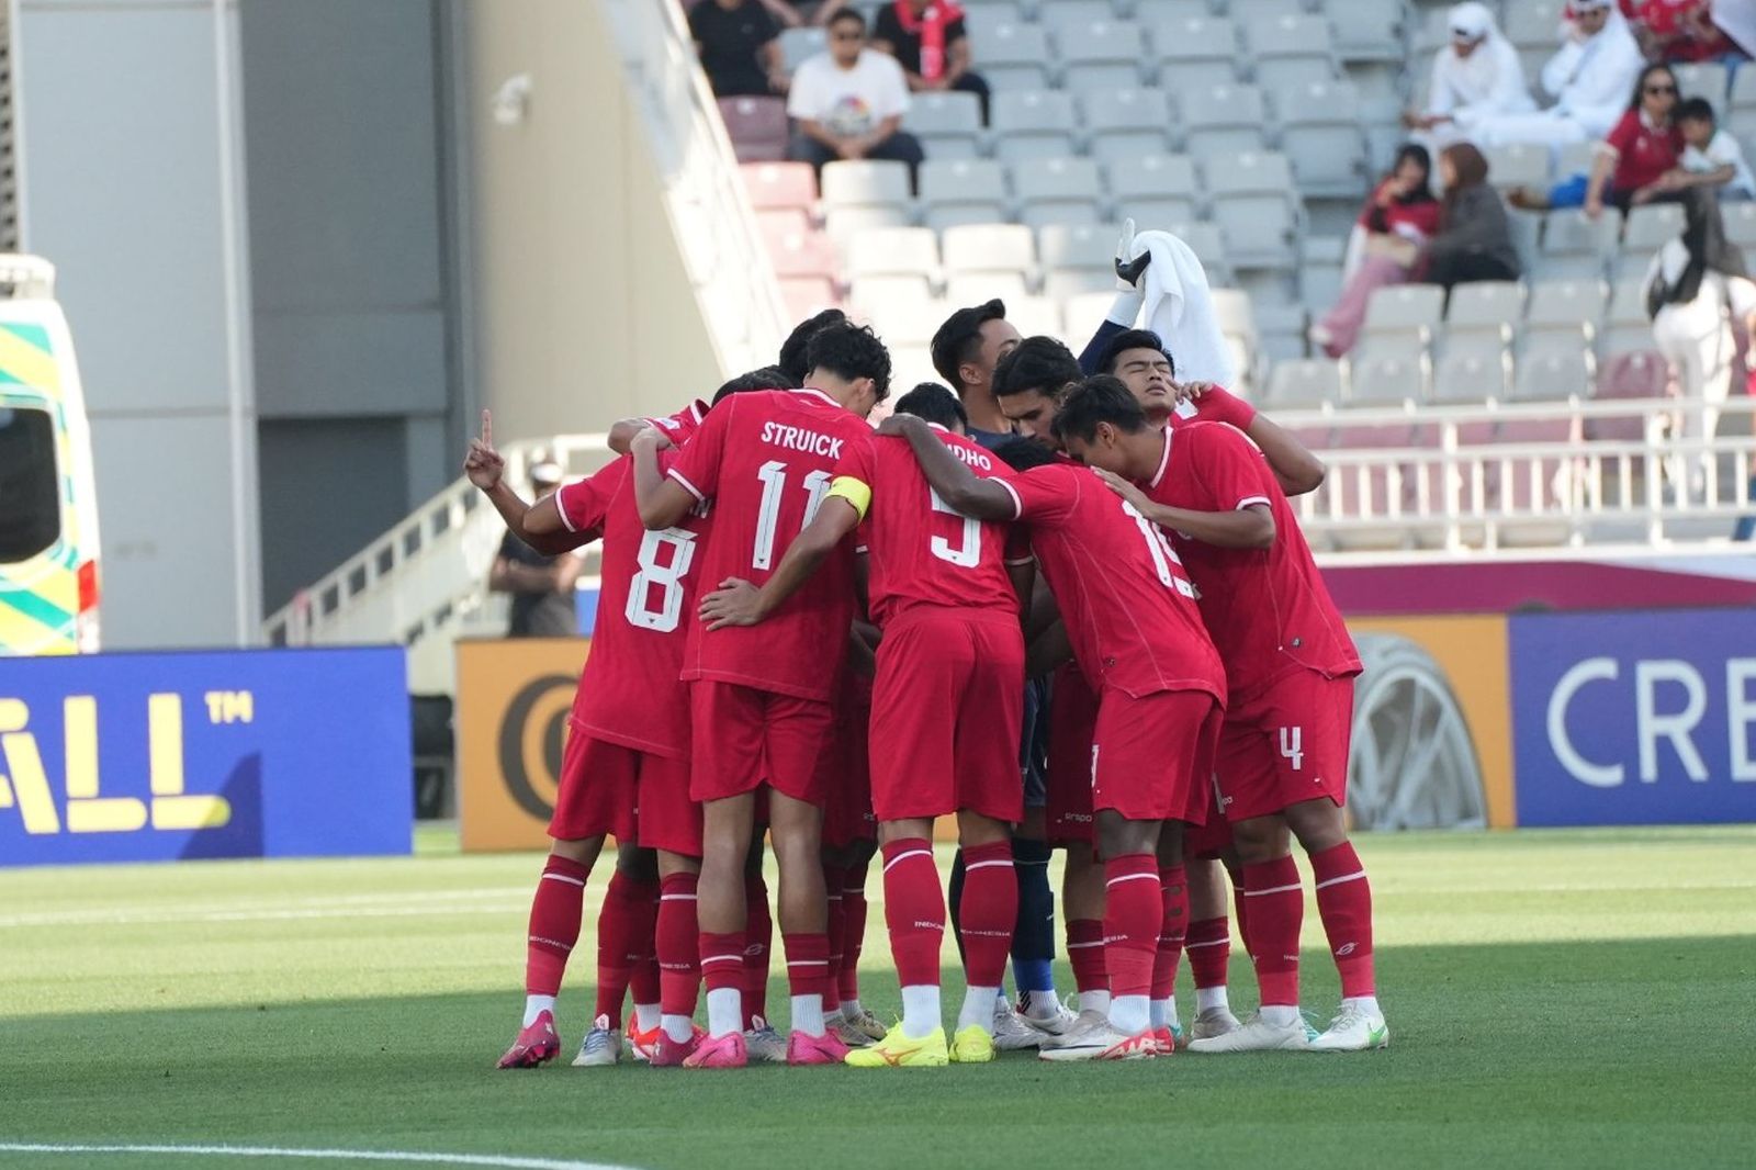
POLYGON ((597 629, 572 699, 572 724, 609 743, 681 759, 688 755, 688 694, 678 673, 708 522, 690 513, 676 527, 648 532, 632 467, 634 460, 622 457, 555 495, 571 532, 604 536, 597 629))

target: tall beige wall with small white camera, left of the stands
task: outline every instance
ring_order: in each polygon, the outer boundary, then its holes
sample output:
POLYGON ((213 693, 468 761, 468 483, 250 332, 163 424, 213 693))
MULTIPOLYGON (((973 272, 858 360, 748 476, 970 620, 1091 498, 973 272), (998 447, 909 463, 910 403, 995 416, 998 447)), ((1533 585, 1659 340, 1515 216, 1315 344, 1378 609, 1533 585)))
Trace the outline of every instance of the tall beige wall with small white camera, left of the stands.
MULTIPOLYGON (((657 2, 657 0, 655 0, 657 2)), ((595 0, 464 0, 471 299, 495 436, 595 430, 722 381, 595 0), (527 74, 523 119, 492 114, 527 74)))

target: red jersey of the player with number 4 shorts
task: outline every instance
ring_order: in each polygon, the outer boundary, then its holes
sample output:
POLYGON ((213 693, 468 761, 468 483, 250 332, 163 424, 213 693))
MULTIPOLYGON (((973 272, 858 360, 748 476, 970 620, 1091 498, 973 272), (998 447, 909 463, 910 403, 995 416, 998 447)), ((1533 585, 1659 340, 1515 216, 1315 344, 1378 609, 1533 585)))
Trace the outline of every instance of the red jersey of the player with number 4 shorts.
POLYGON ((1201 590, 1201 618, 1226 659, 1234 701, 1287 669, 1306 668, 1328 678, 1359 673, 1359 654, 1287 494, 1256 444, 1222 423, 1166 430, 1164 460, 1143 487, 1168 508, 1236 511, 1268 504, 1275 516, 1271 548, 1217 548, 1173 534, 1201 590))

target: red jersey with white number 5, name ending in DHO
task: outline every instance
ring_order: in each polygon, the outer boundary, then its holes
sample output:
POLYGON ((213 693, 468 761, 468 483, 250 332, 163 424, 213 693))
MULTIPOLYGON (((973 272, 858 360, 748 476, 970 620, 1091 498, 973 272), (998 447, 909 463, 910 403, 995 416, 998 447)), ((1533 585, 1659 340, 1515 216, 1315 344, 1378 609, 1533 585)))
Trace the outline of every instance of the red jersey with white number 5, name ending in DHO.
MULTIPOLYGON (((939 439, 982 478, 1006 469, 985 450, 950 430, 939 439)), ((927 483, 908 439, 852 443, 836 464, 831 494, 860 513, 867 562, 867 597, 880 627, 911 606, 1018 610, 1006 576, 1004 524, 983 524, 952 511, 927 483)))

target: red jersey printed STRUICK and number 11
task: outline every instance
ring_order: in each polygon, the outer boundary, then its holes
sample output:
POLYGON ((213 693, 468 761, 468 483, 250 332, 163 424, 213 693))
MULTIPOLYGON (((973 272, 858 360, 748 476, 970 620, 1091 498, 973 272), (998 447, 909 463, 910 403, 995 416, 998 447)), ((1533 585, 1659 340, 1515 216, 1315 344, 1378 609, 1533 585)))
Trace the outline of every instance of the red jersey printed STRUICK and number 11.
MULTIPOLYGON (((669 476, 713 502, 701 580, 762 585, 829 494, 829 481, 871 427, 822 390, 753 390, 713 408, 669 476)), ((853 622, 853 546, 845 543, 760 625, 706 632, 690 622, 683 678, 827 701, 853 622)))

